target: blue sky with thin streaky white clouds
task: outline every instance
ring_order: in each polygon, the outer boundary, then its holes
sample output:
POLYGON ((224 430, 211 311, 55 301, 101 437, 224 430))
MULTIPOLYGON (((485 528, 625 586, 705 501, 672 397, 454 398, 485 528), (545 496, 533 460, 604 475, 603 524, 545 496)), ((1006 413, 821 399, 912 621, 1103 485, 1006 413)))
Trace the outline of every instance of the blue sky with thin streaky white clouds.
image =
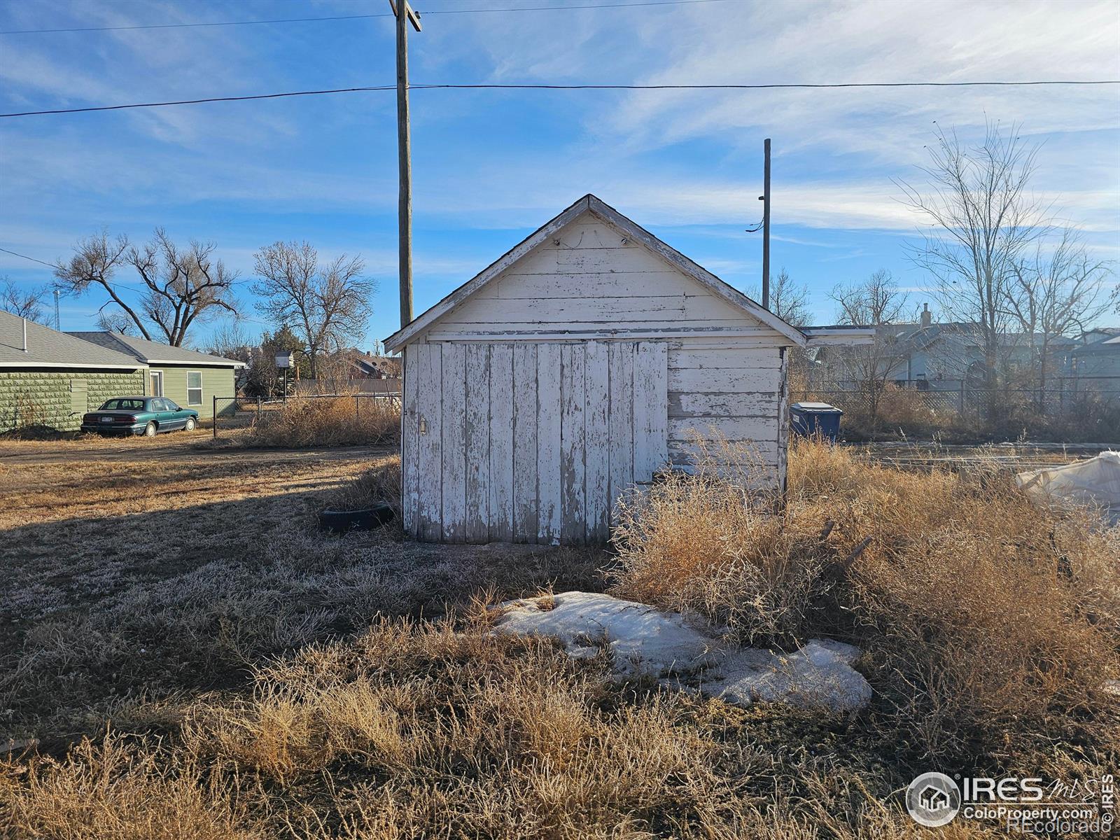
MULTIPOLYGON (((435 13, 607 0, 418 0, 413 83, 1120 78, 1116 2, 703 2, 435 13)), ((628 2, 631 0, 610 0, 628 2)), ((385 0, 0 0, 0 29, 388 12, 385 0)), ((392 84, 391 18, 0 36, 0 110, 392 84)), ((986 115, 1043 142, 1035 188, 1120 256, 1120 87, 412 93, 416 308, 585 193, 731 284, 758 282, 762 141, 774 142, 775 270, 828 291, 878 268, 915 302, 917 179, 934 122, 986 115)), ((380 281, 366 345, 398 324, 394 94, 0 120, 0 248, 50 262, 102 228, 213 240, 244 277, 276 240, 360 253, 380 281)), ((49 280, 0 253, 0 274, 49 280)), ((127 276, 124 276, 127 277, 127 276)), ((248 283, 240 287, 248 293, 248 283)), ((65 329, 100 299, 65 300, 65 329)), ((250 333, 264 326, 243 301, 250 333)), ((204 343, 206 329, 195 334, 204 343)))

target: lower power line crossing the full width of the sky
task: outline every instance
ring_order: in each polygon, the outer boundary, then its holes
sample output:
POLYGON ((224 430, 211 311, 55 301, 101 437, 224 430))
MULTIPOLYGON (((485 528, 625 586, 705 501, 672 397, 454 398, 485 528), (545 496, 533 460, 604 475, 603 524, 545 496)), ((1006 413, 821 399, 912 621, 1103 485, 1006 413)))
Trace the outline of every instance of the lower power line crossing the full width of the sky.
MULTIPOLYGON (((1035 82, 837 82, 828 84, 776 83, 776 84, 662 84, 662 85, 595 85, 595 84, 416 84, 411 91, 458 90, 458 91, 775 91, 775 90, 833 90, 852 87, 1030 87, 1042 85, 1116 85, 1120 80, 1051 80, 1035 82)), ((196 100, 171 100, 167 102, 134 102, 127 105, 91 105, 88 108, 58 108, 45 111, 16 111, 0 114, 0 118, 39 116, 44 114, 77 114, 91 111, 123 111, 132 108, 165 108, 168 105, 197 105, 204 102, 246 102, 249 100, 274 100, 287 96, 319 96, 334 93, 358 93, 366 91, 394 91, 395 85, 373 85, 364 87, 334 87, 323 91, 287 91, 284 93, 259 93, 246 96, 207 96, 196 100)))

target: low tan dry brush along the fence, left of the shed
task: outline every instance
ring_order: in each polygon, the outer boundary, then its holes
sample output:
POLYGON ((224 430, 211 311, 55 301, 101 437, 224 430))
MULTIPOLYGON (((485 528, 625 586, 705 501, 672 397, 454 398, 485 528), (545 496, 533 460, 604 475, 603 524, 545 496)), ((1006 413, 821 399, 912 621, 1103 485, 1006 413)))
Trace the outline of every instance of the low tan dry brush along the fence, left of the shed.
POLYGON ((399 440, 400 430, 401 408, 391 400, 293 396, 279 409, 261 412, 244 442, 277 447, 379 445, 399 440))

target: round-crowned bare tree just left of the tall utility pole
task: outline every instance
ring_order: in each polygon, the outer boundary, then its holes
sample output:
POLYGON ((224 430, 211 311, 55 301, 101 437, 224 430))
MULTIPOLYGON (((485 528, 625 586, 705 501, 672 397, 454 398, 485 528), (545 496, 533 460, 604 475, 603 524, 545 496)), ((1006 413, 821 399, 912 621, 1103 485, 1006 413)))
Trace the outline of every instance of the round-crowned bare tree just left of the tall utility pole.
POLYGON ((361 256, 343 254, 320 265, 307 242, 276 242, 255 256, 258 307, 273 323, 295 329, 316 379, 319 354, 337 352, 365 333, 376 284, 362 276, 361 256))

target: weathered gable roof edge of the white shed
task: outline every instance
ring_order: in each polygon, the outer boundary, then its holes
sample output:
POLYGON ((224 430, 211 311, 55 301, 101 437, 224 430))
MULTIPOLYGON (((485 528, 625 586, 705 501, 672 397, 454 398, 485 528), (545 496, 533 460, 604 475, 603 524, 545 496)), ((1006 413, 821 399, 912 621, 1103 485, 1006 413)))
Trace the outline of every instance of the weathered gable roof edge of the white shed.
POLYGON ((428 327, 439 320, 442 316, 447 315, 449 311, 464 304, 468 298, 473 297, 479 289, 485 287, 496 277, 498 277, 503 271, 505 271, 510 265, 520 260, 522 256, 528 254, 539 244, 544 242, 549 236, 559 231, 561 227, 567 225, 569 222, 575 221, 578 216, 584 213, 591 213, 598 216, 604 222, 614 225, 619 231, 625 233, 629 239, 635 242, 641 242, 651 251, 653 251, 657 256, 669 262, 671 265, 676 268, 685 277, 696 280, 701 286, 706 287, 710 292, 719 297, 720 299, 738 307, 747 315, 760 320, 766 326, 781 333, 783 336, 791 339, 791 342, 799 346, 804 346, 808 342, 808 337, 796 327, 787 324, 782 318, 778 318, 768 309, 764 309, 760 305, 756 304, 754 300, 748 298, 746 295, 740 292, 738 289, 728 286, 726 282, 720 280, 718 277, 712 274, 710 271, 701 265, 698 265, 688 256, 682 254, 680 251, 666 245, 664 242, 659 240, 652 233, 646 231, 644 227, 640 226, 637 223, 624 216, 622 213, 616 211, 614 207, 609 206, 600 198, 594 195, 586 195, 570 207, 564 209, 560 215, 545 222, 541 227, 531 233, 528 237, 522 240, 519 244, 514 245, 510 251, 504 253, 493 263, 483 269, 482 272, 476 274, 474 278, 465 282, 458 289, 452 291, 446 298, 440 300, 433 307, 428 309, 422 315, 414 318, 411 323, 393 333, 389 338, 385 339, 385 351, 394 352, 413 340, 417 336, 423 333, 428 327))

